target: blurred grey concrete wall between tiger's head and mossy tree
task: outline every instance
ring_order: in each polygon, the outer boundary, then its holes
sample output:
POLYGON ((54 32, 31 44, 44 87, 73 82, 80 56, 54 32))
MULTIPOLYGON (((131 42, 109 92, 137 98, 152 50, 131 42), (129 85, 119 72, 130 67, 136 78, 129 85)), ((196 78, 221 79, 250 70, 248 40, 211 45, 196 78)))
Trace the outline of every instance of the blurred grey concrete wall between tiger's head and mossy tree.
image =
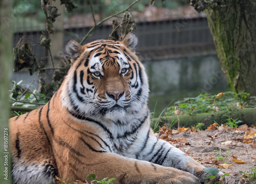
POLYGON ((151 61, 145 66, 152 96, 184 90, 196 90, 199 94, 227 90, 217 55, 151 61))

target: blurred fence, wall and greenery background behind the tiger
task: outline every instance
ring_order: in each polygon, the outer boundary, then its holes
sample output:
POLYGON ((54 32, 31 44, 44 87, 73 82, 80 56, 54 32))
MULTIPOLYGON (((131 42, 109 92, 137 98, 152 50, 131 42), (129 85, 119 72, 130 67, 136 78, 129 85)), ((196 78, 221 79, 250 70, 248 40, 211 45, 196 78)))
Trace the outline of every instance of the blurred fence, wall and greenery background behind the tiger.
MULTIPOLYGON (((81 41, 94 26, 90 1, 74 0, 77 6, 72 13, 56 1, 60 15, 53 23, 55 34, 45 31, 46 16, 40 1, 13 1, 14 39, 13 46, 24 34, 31 42, 33 55, 37 60, 51 63, 49 50, 38 44, 40 35, 52 39, 53 59, 58 60, 63 46, 69 39, 81 41)), ((99 22, 113 13, 122 11, 134 1, 130 0, 91 0, 95 21, 99 22)), ((139 44, 137 55, 146 67, 150 83, 150 108, 156 115, 170 102, 184 97, 194 97, 204 93, 218 94, 228 91, 226 78, 221 71, 214 41, 210 34, 204 13, 198 13, 189 6, 189 0, 155 1, 141 0, 130 9, 136 22, 139 44)), ((108 39, 112 32, 113 17, 98 27, 84 42, 108 39)), ((13 81, 23 80, 29 85, 36 74, 30 75, 27 69, 14 72, 13 81)), ((50 77, 50 76, 49 76, 50 77)), ((37 89, 38 78, 30 86, 37 89)))

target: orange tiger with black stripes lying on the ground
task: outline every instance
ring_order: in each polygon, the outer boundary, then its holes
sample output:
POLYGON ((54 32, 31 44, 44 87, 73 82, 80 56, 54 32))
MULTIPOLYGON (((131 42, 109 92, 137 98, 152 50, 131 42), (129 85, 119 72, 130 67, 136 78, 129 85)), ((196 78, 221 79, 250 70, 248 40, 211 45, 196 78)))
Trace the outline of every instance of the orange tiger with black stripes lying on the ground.
POLYGON ((56 176, 86 182, 90 174, 115 184, 204 183, 205 167, 150 126, 137 44, 134 33, 66 43, 72 66, 60 88, 44 107, 9 121, 13 183, 53 184, 56 176))

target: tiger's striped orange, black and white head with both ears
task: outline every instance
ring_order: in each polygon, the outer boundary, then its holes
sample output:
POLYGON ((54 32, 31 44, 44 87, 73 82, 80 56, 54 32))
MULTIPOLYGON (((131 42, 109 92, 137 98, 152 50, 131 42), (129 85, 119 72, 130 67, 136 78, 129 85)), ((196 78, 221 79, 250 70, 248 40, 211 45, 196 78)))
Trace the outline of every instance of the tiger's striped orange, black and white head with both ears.
POLYGON ((73 114, 125 119, 147 104, 148 83, 135 54, 133 33, 123 41, 96 40, 80 45, 69 40, 65 57, 73 63, 62 85, 62 105, 73 114))

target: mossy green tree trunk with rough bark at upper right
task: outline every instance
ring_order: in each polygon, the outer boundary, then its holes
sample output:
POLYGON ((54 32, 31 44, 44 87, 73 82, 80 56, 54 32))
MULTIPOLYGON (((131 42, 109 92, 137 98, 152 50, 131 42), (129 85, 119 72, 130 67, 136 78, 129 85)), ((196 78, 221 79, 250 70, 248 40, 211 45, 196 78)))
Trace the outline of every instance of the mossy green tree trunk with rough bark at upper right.
POLYGON ((191 5, 205 10, 231 90, 256 96, 255 0, 191 0, 191 5))

